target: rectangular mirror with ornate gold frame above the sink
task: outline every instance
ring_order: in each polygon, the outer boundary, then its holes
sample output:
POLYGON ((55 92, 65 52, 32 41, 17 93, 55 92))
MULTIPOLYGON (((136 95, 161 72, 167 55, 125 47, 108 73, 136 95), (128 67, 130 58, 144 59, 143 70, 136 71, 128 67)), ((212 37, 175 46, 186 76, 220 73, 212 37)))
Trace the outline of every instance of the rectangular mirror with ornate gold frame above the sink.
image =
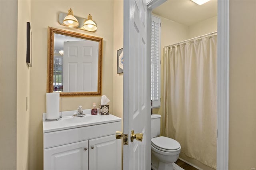
POLYGON ((101 95, 103 38, 48 27, 47 93, 101 95))

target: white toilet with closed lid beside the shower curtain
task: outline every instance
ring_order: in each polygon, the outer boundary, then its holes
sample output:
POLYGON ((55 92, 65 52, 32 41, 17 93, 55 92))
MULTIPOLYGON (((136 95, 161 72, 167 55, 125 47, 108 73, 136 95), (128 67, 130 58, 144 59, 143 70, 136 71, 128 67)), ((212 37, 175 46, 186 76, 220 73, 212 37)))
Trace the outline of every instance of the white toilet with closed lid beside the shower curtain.
POLYGON ((173 170, 172 163, 179 157, 181 146, 176 140, 160 135, 161 115, 151 115, 151 168, 173 170))

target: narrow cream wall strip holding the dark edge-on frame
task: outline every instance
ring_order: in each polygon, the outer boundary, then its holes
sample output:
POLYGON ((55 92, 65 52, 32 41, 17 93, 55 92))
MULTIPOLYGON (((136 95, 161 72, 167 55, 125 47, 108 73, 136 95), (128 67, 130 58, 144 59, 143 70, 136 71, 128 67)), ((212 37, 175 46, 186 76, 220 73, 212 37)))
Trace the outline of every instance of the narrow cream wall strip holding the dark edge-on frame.
MULTIPOLYGON (((28 170, 30 68, 26 64, 26 22, 30 22, 31 1, 18 0, 18 47, 17 47, 17 169, 28 170)), ((32 26, 33 29, 33 26, 32 26)), ((34 40, 32 40, 34 42, 34 40)), ((32 53, 35 57, 36 53, 32 53)))

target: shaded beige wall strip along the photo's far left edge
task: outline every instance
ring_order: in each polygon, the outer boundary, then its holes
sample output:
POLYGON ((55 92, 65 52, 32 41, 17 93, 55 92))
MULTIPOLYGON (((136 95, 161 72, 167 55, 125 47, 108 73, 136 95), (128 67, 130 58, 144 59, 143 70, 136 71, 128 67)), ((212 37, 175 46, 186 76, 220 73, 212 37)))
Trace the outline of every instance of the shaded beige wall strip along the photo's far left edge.
MULTIPOLYGON (((18 0, 0 1, 0 169, 16 169, 18 0)), ((24 61, 25 62, 25 61, 24 61)), ((22 64, 22 63, 20 63, 22 64)))

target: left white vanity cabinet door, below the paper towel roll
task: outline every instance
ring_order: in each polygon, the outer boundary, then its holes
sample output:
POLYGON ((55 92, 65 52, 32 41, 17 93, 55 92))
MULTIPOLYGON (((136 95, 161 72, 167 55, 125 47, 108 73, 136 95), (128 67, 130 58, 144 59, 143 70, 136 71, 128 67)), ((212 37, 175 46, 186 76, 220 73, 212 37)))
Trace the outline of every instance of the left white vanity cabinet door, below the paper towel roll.
POLYGON ((44 149, 44 170, 88 170, 88 140, 44 149))

